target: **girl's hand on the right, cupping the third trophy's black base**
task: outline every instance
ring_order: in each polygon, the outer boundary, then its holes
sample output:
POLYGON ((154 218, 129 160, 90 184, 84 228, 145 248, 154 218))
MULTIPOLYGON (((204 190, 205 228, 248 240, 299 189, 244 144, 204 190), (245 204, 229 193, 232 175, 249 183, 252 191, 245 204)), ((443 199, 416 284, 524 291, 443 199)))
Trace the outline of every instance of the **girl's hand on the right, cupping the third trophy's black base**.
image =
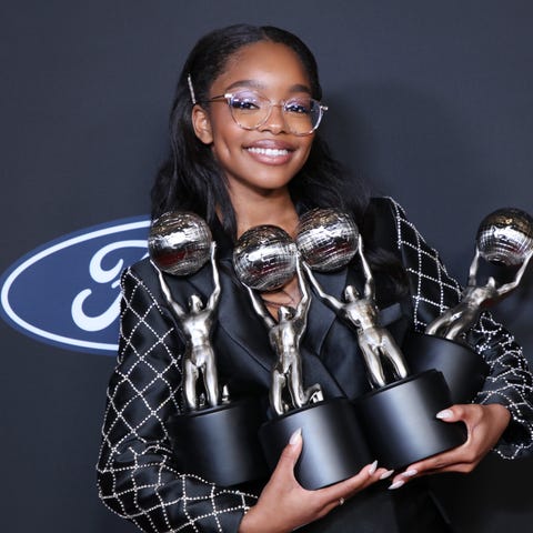
POLYGON ((500 404, 453 405, 438 413, 445 422, 464 422, 467 439, 461 446, 413 463, 392 480, 389 489, 399 489, 408 480, 441 472, 469 473, 496 444, 511 420, 511 413, 500 404))

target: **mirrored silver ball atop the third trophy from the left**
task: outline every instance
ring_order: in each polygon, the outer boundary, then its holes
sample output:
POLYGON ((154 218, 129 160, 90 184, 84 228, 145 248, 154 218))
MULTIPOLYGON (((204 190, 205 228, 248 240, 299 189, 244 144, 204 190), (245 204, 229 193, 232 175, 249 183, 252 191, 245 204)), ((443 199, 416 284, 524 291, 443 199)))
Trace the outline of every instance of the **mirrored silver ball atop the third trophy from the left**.
POLYGON ((358 252, 359 230, 353 219, 335 209, 313 209, 300 218, 296 245, 312 270, 330 272, 345 266, 358 252))

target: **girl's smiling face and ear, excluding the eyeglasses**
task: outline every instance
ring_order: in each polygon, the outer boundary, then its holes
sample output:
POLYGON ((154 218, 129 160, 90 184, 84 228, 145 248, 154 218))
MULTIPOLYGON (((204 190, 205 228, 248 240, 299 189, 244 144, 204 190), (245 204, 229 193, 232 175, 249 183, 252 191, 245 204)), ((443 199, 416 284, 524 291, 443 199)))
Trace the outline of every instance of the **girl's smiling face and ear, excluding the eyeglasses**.
MULTIPOLYGON (((210 98, 247 89, 276 104, 311 92, 309 77, 295 52, 271 41, 245 46, 230 58, 212 83, 210 98)), ((225 100, 203 108, 195 105, 192 117, 197 135, 212 147, 233 198, 286 192, 289 182, 305 163, 314 137, 290 133, 279 105, 257 130, 239 127, 225 100)))

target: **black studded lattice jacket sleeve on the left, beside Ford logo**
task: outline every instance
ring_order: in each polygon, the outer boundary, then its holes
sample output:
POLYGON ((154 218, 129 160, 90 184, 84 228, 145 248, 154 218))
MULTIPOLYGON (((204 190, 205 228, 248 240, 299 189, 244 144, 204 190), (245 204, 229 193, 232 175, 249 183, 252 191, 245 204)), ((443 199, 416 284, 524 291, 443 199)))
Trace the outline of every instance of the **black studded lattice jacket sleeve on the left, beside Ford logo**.
POLYGON ((123 273, 119 356, 97 465, 99 495, 144 532, 237 532, 257 497, 174 467, 165 423, 182 409, 182 345, 153 292, 134 269, 123 273))

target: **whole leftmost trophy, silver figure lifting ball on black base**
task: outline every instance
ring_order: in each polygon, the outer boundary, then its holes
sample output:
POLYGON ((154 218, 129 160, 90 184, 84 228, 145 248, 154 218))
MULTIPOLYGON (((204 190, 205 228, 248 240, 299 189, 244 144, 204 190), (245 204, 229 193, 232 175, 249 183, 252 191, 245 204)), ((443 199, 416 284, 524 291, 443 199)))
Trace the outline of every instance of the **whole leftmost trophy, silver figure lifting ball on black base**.
POLYGON ((221 295, 217 245, 194 213, 168 212, 151 227, 148 248, 167 308, 184 343, 182 383, 185 409, 168 421, 180 470, 231 486, 261 477, 266 465, 258 440, 259 403, 233 401, 219 388, 211 333, 221 295), (165 274, 190 276, 211 260, 213 291, 205 303, 191 294, 188 309, 173 296, 165 274), (201 391, 201 392, 200 392, 201 391))

